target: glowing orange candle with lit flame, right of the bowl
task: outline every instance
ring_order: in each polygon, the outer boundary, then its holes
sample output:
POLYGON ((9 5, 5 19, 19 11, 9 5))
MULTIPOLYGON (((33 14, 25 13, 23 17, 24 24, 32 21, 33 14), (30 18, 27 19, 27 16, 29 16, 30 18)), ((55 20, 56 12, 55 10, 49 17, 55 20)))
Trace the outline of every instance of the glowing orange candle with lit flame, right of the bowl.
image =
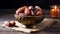
POLYGON ((60 6, 58 6, 58 5, 51 6, 50 17, 52 17, 52 18, 60 17, 60 6))

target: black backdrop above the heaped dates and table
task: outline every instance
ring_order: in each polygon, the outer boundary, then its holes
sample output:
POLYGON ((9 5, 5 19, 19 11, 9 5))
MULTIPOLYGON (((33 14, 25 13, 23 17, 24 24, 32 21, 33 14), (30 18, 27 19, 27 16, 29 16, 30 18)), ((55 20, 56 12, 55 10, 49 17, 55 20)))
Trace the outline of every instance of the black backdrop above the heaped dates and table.
POLYGON ((0 0, 0 8, 19 8, 24 5, 38 5, 43 9, 49 9, 51 5, 60 4, 60 0, 0 0))

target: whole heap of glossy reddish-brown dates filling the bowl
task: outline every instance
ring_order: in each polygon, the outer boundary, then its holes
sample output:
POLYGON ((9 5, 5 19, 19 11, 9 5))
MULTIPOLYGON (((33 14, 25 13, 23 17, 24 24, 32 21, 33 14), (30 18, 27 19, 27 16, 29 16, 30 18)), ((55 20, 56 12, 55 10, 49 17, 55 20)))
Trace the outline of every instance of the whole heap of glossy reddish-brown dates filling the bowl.
POLYGON ((16 10, 16 14, 19 16, 40 16, 43 12, 39 6, 23 6, 16 10))

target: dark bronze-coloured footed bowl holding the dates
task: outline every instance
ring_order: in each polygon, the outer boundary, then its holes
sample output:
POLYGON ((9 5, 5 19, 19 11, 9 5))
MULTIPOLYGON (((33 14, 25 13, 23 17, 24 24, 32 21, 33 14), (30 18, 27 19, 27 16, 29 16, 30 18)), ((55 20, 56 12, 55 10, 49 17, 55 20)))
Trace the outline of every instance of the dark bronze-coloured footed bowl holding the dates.
POLYGON ((44 19, 43 15, 41 16, 19 16, 15 14, 14 16, 17 21, 19 21, 20 23, 28 27, 36 25, 44 19))

